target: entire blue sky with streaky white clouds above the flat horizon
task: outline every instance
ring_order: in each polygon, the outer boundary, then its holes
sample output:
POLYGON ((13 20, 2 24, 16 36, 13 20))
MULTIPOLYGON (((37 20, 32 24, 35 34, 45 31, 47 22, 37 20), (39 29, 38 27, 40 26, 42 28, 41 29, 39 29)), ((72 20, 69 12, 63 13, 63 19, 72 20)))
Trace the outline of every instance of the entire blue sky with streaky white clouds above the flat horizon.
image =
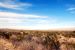
POLYGON ((0 28, 75 28, 75 0, 0 0, 0 28))

